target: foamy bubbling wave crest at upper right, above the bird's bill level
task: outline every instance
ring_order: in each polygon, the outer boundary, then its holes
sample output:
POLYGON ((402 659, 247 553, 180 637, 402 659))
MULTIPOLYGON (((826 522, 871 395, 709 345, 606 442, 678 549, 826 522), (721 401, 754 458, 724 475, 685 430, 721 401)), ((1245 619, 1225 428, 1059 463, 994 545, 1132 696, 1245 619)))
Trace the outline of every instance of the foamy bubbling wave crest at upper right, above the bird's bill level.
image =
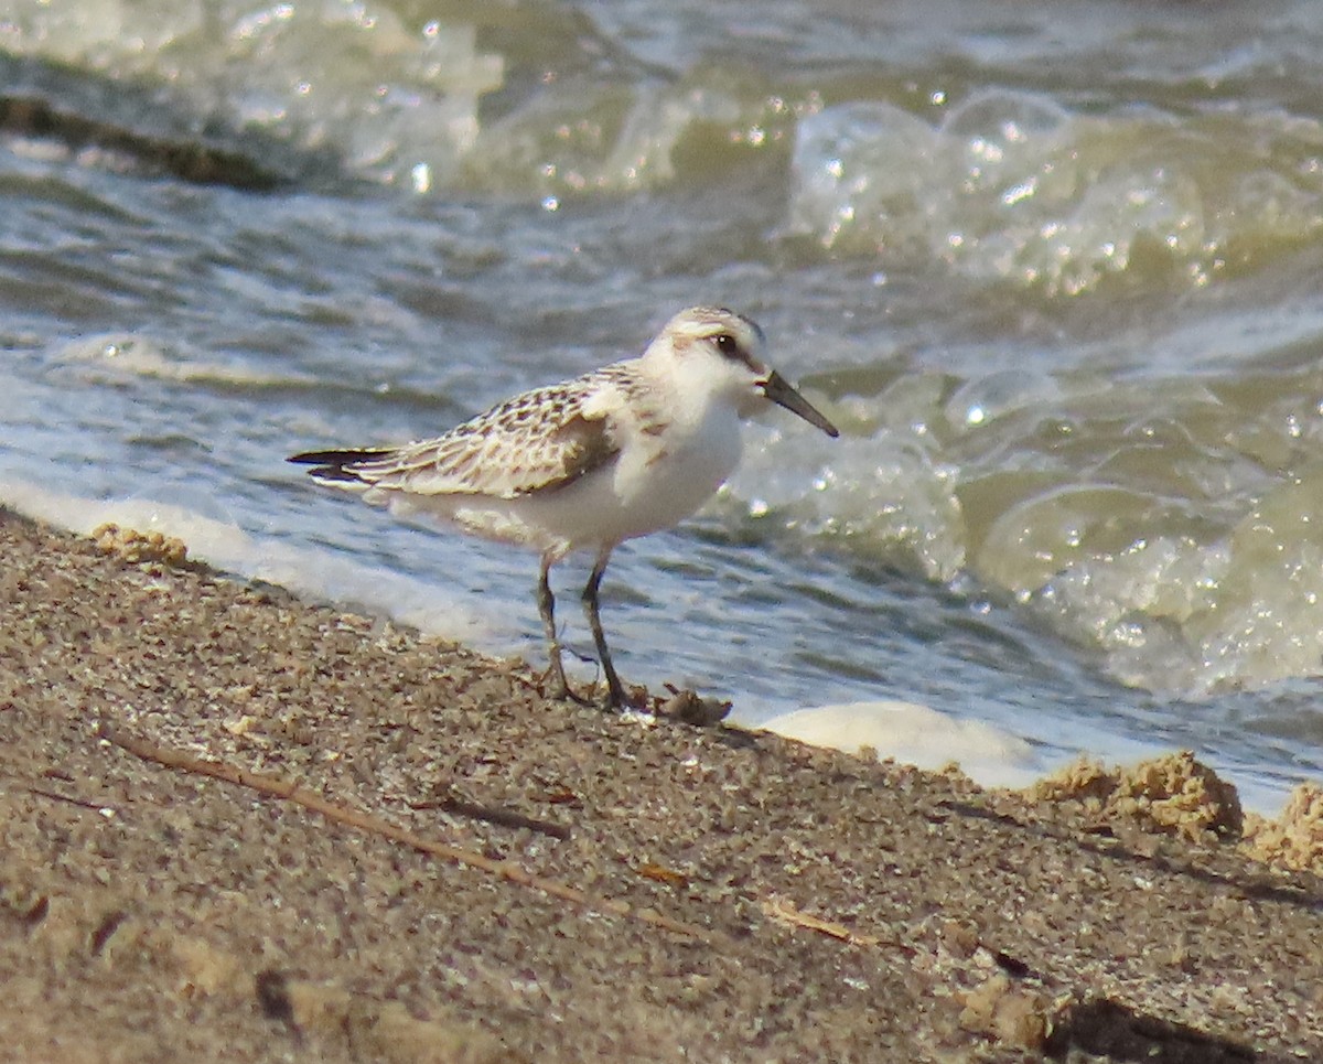
POLYGON ((843 103, 799 123, 789 229, 1046 295, 1201 287, 1318 240, 1320 156, 1323 126, 1279 111, 1094 115, 983 90, 933 123, 843 103))

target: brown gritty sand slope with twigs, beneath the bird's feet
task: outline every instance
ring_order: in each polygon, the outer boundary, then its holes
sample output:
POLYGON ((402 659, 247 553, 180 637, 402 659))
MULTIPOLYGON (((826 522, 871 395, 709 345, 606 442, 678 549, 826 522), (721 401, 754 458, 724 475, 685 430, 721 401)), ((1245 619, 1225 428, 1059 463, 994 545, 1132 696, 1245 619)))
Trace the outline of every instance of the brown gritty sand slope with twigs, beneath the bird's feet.
POLYGON ((160 545, 0 545, 0 1057, 1323 1060, 1323 880, 1234 817, 548 703, 160 545))

